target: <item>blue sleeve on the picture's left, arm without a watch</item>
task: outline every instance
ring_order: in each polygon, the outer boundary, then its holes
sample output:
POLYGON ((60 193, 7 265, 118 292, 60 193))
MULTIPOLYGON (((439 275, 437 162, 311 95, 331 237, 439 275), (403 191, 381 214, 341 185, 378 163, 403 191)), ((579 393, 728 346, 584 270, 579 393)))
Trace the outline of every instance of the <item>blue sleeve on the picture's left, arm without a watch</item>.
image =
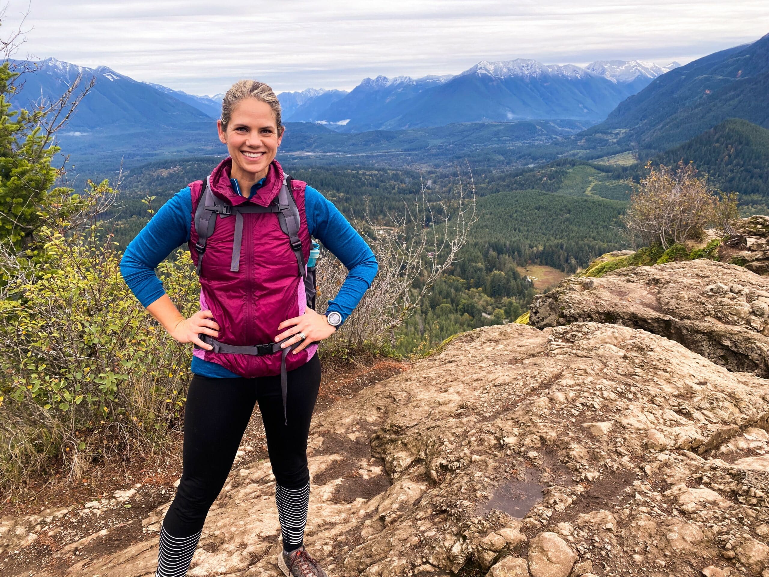
POLYGON ((162 205, 125 248, 120 272, 141 305, 151 305, 165 295, 155 268, 179 245, 189 241, 192 193, 183 188, 162 205))

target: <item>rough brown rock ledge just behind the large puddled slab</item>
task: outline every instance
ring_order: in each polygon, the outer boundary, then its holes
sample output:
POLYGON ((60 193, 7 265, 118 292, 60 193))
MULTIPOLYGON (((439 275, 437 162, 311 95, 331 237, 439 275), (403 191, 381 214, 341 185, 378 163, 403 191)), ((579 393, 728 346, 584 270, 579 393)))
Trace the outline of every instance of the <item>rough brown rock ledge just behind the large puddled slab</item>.
POLYGON ((769 377, 769 278, 704 258, 566 278, 537 295, 530 324, 611 322, 680 342, 731 371, 769 377))

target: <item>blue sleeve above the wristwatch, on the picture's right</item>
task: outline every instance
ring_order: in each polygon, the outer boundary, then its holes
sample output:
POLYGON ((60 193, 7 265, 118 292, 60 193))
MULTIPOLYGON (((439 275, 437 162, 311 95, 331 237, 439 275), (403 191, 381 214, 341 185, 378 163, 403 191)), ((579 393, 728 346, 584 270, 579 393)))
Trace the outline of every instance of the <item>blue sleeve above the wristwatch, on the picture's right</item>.
POLYGON ((345 282, 335 298, 328 301, 327 309, 338 312, 344 322, 371 286, 378 271, 377 259, 338 208, 309 185, 305 188, 305 215, 310 234, 348 270, 345 282))

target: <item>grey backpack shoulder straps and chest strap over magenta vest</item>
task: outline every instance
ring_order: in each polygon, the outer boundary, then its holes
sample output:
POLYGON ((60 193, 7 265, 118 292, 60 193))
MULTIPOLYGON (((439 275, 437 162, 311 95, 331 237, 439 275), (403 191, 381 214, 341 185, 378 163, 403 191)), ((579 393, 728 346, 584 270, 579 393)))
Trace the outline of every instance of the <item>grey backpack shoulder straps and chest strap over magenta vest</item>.
POLYGON ((305 282, 307 305, 310 309, 315 309, 315 265, 306 266, 305 256, 301 253, 301 240, 299 239, 301 219, 299 218, 299 209, 292 192, 293 188, 291 188, 291 177, 284 175, 283 184, 278 192, 278 196, 268 206, 252 205, 250 203, 233 206, 211 192, 210 178, 210 176, 205 178, 205 186, 198 201, 198 208, 195 209, 195 231, 198 232, 198 242, 195 243, 195 251, 198 252, 198 268, 196 269, 198 276, 200 276, 203 265, 205 244, 208 238, 214 234, 216 215, 219 215, 219 218, 227 218, 233 212, 235 213, 235 238, 232 241, 230 270, 237 272, 240 267, 240 253, 243 241, 243 215, 249 212, 273 212, 277 215, 281 230, 288 236, 288 243, 296 255, 299 275, 305 282))

